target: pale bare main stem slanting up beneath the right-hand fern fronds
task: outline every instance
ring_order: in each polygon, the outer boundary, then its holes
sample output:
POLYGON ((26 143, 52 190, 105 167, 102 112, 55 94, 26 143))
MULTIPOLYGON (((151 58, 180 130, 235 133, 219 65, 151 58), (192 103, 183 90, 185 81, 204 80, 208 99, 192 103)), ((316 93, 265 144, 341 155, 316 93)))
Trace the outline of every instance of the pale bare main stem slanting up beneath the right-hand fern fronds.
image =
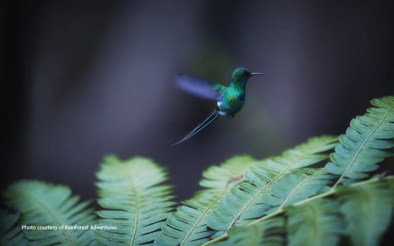
MULTIPOLYGON (((387 176, 385 179, 386 180, 387 179, 394 179, 394 175, 387 176)), ((365 181, 361 181, 361 182, 352 184, 350 186, 351 187, 355 187, 355 186, 364 185, 364 184, 368 184, 368 183, 378 182, 380 180, 381 179, 379 179, 379 178, 372 178, 372 179, 368 179, 368 180, 365 180, 365 181)), ((315 195, 315 196, 311 196, 311 197, 309 197, 309 198, 307 198, 305 200, 299 201, 299 202, 293 204, 292 207, 308 203, 308 202, 313 201, 313 200, 318 199, 318 198, 322 198, 322 197, 326 197, 326 196, 332 195, 333 193, 335 193, 335 191, 336 191, 336 189, 334 189, 334 187, 332 187, 329 191, 321 193, 321 194, 318 194, 318 195, 315 195)), ((265 219, 269 219, 269 218, 275 217, 275 216, 280 215, 280 214, 282 214, 282 213, 284 213, 286 211, 287 211, 287 209, 279 209, 279 210, 277 210, 277 211, 275 211, 275 212, 273 212, 273 213, 271 213, 269 215, 266 215, 266 216, 264 216, 264 217, 262 217, 260 219, 256 219, 256 220, 250 222, 249 224, 247 224, 245 226, 249 226, 249 225, 253 225, 253 224, 259 223, 259 222, 261 222, 261 221, 263 221, 265 219)), ((217 238, 215 238, 215 239, 213 239, 211 241, 208 241, 208 242, 206 242, 205 244, 203 244, 201 246, 207 246, 207 245, 213 244, 215 242, 224 240, 224 239, 226 239, 228 237, 229 237, 229 234, 227 232, 225 232, 225 234, 223 234, 222 236, 217 237, 217 238)))

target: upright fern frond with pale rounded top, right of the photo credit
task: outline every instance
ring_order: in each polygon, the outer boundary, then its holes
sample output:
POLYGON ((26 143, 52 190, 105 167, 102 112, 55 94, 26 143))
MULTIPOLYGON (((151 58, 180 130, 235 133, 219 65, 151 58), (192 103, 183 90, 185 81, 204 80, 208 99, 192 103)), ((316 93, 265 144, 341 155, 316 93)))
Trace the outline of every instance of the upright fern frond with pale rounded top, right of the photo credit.
POLYGON ((99 205, 101 225, 117 225, 116 229, 97 231, 99 245, 149 245, 160 233, 169 212, 171 186, 160 185, 167 173, 150 159, 135 157, 104 159, 99 172, 99 205))

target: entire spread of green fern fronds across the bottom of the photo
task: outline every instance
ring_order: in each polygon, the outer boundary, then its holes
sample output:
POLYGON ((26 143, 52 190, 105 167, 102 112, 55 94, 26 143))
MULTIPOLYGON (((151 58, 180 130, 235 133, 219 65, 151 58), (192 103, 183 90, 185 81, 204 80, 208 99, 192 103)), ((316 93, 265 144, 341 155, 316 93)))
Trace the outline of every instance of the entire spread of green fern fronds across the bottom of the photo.
POLYGON ((394 97, 371 103, 376 107, 353 119, 339 138, 313 137, 276 157, 236 156, 209 167, 203 189, 174 212, 166 171, 142 157, 104 159, 97 173, 99 220, 64 186, 16 182, 3 192, 5 204, 17 210, 1 211, 0 242, 378 245, 392 219, 394 176, 368 176, 392 155, 394 97), (22 231, 22 224, 116 228, 22 231))

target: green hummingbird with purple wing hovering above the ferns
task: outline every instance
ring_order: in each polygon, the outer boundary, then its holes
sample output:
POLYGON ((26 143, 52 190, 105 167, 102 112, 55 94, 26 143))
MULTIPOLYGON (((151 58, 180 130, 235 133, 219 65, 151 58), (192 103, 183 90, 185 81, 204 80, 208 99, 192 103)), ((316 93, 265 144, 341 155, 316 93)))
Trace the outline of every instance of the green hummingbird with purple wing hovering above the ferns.
POLYGON ((253 75, 263 74, 264 73, 251 73, 243 67, 235 68, 231 75, 229 87, 191 75, 175 76, 175 84, 178 88, 197 97, 216 101, 217 108, 188 135, 171 146, 193 137, 219 116, 234 117, 245 104, 245 86, 248 79, 253 75))

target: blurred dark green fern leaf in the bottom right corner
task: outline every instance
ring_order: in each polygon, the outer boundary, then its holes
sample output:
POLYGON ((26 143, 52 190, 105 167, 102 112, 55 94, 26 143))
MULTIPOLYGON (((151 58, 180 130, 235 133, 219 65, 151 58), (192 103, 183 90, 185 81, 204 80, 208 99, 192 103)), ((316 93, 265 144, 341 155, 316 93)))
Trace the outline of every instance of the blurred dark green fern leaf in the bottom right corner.
POLYGON ((378 245, 379 236, 390 223, 394 187, 384 181, 337 189, 341 211, 348 223, 347 233, 354 245, 378 245))

